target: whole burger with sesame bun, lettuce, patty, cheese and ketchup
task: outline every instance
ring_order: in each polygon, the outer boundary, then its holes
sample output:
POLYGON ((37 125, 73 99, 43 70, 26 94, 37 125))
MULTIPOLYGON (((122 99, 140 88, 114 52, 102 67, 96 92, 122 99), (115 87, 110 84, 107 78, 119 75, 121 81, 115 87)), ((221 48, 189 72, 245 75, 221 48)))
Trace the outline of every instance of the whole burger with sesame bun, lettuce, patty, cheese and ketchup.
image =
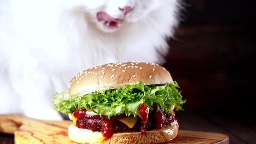
POLYGON ((53 94, 69 115, 69 137, 80 144, 160 144, 177 137, 182 110, 177 82, 148 62, 95 65, 75 75, 69 91, 53 94))

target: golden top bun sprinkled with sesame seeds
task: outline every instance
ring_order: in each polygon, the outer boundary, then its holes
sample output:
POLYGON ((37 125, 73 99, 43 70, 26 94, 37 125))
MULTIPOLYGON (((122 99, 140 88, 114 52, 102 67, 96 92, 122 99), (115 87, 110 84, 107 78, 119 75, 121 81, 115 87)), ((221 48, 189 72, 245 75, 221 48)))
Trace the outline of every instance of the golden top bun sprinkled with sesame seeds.
POLYGON ((116 62, 95 65, 75 75, 69 84, 73 96, 84 95, 97 90, 123 88, 127 84, 146 85, 173 82, 170 72, 164 67, 148 62, 116 62))

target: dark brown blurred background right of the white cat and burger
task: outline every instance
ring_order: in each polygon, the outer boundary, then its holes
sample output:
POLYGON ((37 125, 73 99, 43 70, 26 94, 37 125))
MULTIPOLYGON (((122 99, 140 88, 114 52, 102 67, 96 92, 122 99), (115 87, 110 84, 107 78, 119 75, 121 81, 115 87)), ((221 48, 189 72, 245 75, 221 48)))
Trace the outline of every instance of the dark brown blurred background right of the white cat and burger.
POLYGON ((181 128, 222 132, 231 144, 255 144, 255 5, 185 1, 164 65, 187 99, 185 111, 176 113, 181 128))

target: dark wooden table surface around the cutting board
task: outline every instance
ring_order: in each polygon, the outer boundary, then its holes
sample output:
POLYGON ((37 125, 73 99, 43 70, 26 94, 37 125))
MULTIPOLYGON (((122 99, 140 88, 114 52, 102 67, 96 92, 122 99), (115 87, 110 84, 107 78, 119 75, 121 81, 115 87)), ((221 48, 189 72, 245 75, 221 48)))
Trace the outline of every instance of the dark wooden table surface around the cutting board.
MULTIPOLYGON (((221 115, 218 111, 177 111, 176 118, 182 130, 209 131, 229 136, 230 144, 255 144, 256 130, 245 123, 221 115)), ((0 134, 0 144, 13 144, 13 135, 0 134)))

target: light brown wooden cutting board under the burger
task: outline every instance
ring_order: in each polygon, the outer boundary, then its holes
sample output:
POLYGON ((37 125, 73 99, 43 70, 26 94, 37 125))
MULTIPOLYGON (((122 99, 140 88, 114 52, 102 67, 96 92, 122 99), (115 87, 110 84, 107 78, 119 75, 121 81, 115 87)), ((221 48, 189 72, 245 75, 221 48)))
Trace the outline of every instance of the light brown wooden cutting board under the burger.
MULTIPOLYGON (((14 134, 16 144, 76 144, 70 141, 72 121, 42 121, 23 115, 0 115, 0 132, 14 134)), ((224 134, 180 130, 172 144, 229 144, 224 134)))

